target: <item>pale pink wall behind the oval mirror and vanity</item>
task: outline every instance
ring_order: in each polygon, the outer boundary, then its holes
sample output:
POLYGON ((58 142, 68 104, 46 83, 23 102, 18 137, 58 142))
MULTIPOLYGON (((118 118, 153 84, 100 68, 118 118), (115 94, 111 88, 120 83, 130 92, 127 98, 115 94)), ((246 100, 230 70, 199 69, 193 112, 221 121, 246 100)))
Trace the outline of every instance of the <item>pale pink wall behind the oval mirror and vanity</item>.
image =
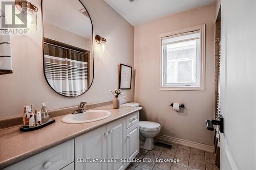
MULTIPOLYGON (((23 106, 32 104, 40 109, 76 106, 80 102, 97 103, 113 99, 110 89, 118 85, 118 64, 133 66, 134 27, 102 0, 82 0, 93 22, 94 36, 107 40, 107 52, 100 53, 94 40, 94 81, 91 88, 77 98, 67 98, 54 92, 47 84, 42 69, 42 33, 40 0, 30 1, 38 7, 37 30, 29 35, 12 36, 13 74, 0 76, 0 118, 21 116, 23 106)), ((133 84, 133 83, 132 83, 133 84)), ((126 101, 133 101, 134 87, 124 90, 126 101)), ((125 102, 120 99, 121 102, 125 102)))

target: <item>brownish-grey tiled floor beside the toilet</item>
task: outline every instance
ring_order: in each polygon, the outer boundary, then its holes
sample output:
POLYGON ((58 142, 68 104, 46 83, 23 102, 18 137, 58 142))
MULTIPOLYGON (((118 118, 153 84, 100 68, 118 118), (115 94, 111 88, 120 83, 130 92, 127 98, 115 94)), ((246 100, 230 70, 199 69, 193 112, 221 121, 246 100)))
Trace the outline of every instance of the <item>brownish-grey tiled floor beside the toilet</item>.
POLYGON ((127 170, 219 170, 215 165, 215 155, 210 152, 185 147, 177 143, 161 141, 173 145, 172 149, 157 147, 152 151, 140 149, 136 158, 150 158, 151 162, 131 163, 127 170), (179 159, 179 163, 159 163, 159 159, 179 159))

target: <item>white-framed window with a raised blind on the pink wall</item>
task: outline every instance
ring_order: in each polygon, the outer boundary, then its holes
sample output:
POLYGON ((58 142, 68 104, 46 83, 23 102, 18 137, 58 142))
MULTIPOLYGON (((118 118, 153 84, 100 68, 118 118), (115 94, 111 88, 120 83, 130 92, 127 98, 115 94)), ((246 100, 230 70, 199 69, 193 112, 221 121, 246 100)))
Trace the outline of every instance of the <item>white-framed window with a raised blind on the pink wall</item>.
POLYGON ((161 35, 160 90, 204 90, 204 25, 161 35))

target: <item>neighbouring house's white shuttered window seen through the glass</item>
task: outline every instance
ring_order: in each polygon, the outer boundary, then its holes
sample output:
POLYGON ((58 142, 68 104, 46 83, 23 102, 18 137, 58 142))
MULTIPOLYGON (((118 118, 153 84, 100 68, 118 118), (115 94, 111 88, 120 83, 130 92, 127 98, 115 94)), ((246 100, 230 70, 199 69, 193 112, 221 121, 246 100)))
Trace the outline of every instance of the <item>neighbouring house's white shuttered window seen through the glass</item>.
POLYGON ((177 61, 177 82, 193 82, 193 61, 191 59, 177 61))

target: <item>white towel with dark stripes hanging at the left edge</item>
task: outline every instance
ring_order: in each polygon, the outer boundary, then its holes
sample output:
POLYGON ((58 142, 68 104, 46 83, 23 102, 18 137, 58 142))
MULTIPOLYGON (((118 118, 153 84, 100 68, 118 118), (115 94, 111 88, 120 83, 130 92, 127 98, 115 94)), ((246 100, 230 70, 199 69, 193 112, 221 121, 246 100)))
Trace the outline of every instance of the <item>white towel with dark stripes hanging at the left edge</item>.
POLYGON ((3 33, 7 28, 2 28, 2 18, 5 17, 1 10, 0 14, 0 75, 12 73, 10 35, 3 33))

